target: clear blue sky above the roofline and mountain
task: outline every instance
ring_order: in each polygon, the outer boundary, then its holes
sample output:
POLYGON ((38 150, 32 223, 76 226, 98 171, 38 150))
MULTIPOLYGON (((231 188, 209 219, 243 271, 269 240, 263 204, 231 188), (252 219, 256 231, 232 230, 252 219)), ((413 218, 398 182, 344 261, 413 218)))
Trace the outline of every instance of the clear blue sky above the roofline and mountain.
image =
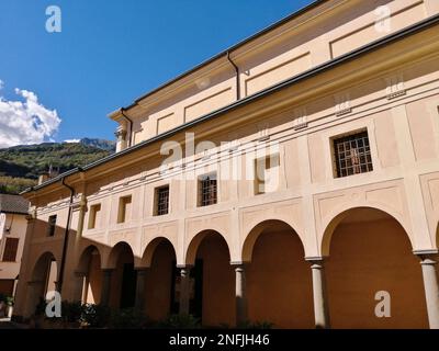
POLYGON ((44 124, 32 111, 21 125, 1 124, 32 101, 47 121, 56 110, 61 122, 47 133, 57 141, 113 139, 108 113, 311 2, 0 0, 0 146, 1 133, 9 145, 36 138, 11 136, 25 123, 44 124), (61 33, 45 30, 52 4, 61 10, 61 33))

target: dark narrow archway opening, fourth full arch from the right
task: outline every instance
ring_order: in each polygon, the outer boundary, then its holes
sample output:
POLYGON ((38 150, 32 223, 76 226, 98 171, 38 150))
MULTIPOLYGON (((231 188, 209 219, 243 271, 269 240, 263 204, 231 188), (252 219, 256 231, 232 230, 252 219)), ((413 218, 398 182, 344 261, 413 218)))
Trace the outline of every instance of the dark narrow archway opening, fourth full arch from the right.
POLYGON ((146 278, 146 314, 153 320, 161 320, 178 313, 176 251, 168 239, 157 238, 148 245, 144 257, 146 254, 151 256, 146 278))

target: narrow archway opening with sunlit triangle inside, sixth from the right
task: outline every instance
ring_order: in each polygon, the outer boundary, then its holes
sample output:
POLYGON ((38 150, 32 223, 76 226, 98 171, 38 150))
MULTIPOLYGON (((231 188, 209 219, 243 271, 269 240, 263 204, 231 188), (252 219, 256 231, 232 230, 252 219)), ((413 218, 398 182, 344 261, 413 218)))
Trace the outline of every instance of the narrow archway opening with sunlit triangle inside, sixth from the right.
MULTIPOLYGON (((87 304, 99 304, 102 290, 101 254, 95 246, 89 246, 81 254, 78 265, 80 299, 87 304)), ((79 297, 79 296, 78 296, 79 297)))

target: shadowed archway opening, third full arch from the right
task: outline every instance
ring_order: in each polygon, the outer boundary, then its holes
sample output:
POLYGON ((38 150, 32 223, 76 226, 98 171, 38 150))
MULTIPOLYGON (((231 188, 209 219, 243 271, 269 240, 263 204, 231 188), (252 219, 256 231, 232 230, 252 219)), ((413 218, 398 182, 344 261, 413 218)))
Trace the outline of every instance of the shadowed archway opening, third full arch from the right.
POLYGON ((205 230, 195 236, 189 251, 196 252, 191 269, 190 313, 204 326, 234 325, 235 273, 226 240, 217 231, 205 230))

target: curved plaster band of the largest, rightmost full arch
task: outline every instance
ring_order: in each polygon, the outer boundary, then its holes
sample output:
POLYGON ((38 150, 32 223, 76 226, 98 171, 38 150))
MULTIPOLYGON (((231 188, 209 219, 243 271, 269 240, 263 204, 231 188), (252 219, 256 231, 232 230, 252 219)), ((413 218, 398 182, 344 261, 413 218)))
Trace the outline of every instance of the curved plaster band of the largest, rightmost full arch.
POLYGON ((323 225, 323 228, 325 228, 323 231, 323 235, 320 236, 322 237, 320 253, 323 257, 329 256, 330 239, 333 237, 334 230, 337 228, 337 226, 340 224, 340 222, 344 220, 352 211, 361 210, 361 208, 375 210, 375 211, 384 213, 387 216, 395 219, 403 227, 404 231, 406 233, 408 240, 410 241, 412 248, 415 248, 414 239, 410 235, 410 230, 408 230, 408 227, 407 227, 405 220, 403 219, 403 217, 399 214, 396 214, 394 211, 392 211, 387 206, 382 205, 382 204, 373 204, 373 205, 364 204, 364 205, 356 205, 356 206, 346 205, 341 208, 338 208, 338 211, 333 214, 331 218, 328 219, 323 225))

